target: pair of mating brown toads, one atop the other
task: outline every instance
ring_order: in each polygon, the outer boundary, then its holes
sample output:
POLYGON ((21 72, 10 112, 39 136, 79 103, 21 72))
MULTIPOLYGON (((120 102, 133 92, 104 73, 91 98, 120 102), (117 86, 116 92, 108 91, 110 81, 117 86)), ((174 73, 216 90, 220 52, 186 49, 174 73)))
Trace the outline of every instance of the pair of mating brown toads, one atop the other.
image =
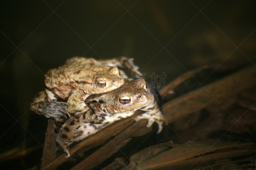
POLYGON ((133 59, 120 57, 97 61, 92 58, 73 57, 45 75, 44 91, 31 103, 31 110, 39 115, 68 118, 56 134, 56 141, 70 157, 68 145, 80 141, 103 127, 128 116, 136 110, 145 113, 136 117, 148 119, 163 128, 163 116, 156 99, 143 78, 125 78, 122 67, 139 74, 133 59), (57 99, 67 100, 60 102, 57 99))

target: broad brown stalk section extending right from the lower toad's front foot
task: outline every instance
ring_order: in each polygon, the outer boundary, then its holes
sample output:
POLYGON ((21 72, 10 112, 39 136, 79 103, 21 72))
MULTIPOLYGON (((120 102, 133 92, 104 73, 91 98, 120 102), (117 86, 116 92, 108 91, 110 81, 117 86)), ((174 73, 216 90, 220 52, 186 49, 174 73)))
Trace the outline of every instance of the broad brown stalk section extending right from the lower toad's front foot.
POLYGON ((194 92, 176 98, 163 106, 165 122, 171 123, 181 117, 226 100, 256 85, 256 67, 251 66, 194 92))

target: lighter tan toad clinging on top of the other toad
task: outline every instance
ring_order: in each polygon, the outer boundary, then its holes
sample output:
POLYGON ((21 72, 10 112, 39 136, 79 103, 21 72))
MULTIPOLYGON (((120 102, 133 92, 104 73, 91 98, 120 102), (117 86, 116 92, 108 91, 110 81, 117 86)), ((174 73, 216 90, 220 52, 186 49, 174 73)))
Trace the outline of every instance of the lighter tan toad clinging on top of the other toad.
POLYGON ((45 85, 48 89, 35 96, 31 110, 56 120, 60 116, 67 118, 67 115, 80 112, 87 108, 84 100, 90 94, 108 92, 123 85, 124 76, 116 66, 136 71, 137 67, 133 65, 132 60, 121 57, 104 62, 92 58, 72 57, 64 65, 46 73, 45 85), (58 98, 67 100, 67 103, 58 102, 58 98), (57 107, 59 109, 56 109, 57 107))

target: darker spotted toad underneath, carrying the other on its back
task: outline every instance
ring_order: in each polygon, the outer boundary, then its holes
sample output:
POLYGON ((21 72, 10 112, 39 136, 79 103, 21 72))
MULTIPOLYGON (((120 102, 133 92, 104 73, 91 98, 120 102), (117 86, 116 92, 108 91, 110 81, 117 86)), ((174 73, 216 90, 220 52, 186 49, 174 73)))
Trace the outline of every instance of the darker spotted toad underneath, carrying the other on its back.
POLYGON ((153 122, 163 128, 163 117, 154 96, 149 92, 144 79, 125 79, 124 85, 111 92, 91 95, 85 103, 89 108, 75 113, 65 122, 56 135, 56 141, 70 156, 68 145, 94 134, 105 126, 133 115, 136 110, 146 111, 135 120, 148 119, 147 127, 153 122))

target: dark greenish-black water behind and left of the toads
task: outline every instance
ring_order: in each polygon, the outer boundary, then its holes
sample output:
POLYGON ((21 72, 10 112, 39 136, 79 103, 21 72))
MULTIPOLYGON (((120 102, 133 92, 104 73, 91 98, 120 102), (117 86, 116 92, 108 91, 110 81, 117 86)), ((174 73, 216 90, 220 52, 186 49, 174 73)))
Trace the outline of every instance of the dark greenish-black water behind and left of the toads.
MULTIPOLYGON (((250 0, 1 2, 0 152, 44 144, 47 119, 30 112, 29 104, 44 88, 44 73, 71 56, 132 57, 149 82, 153 72, 165 73, 165 85, 209 63, 255 64, 255 4, 250 0)), ((2 165, 28 169, 40 163, 41 154, 42 148, 2 165)))

